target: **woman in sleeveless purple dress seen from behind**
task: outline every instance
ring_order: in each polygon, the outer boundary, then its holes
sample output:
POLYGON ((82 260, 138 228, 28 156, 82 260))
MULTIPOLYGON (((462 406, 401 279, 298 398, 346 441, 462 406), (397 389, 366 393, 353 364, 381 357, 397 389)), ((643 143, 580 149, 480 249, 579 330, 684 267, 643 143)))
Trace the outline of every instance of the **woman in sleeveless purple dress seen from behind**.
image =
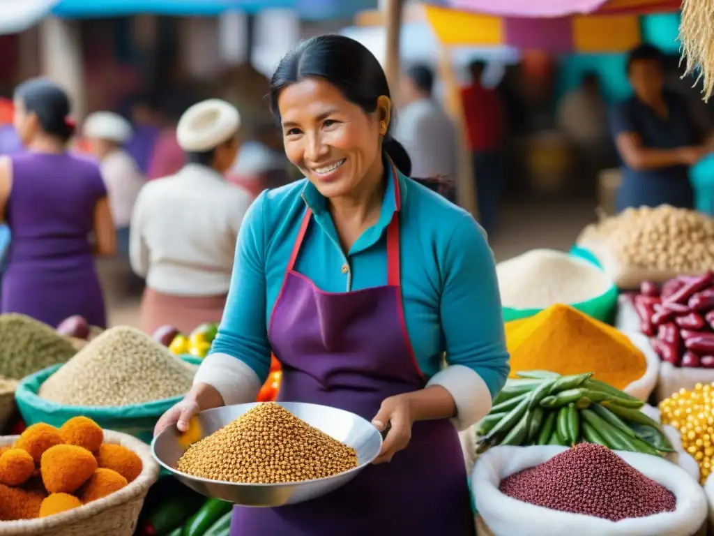
POLYGON ((1 312, 51 326, 81 314, 105 327, 92 255, 113 255, 116 235, 99 167, 66 152, 75 127, 69 97, 54 82, 26 81, 14 100, 27 151, 0 159, 0 211, 12 233, 1 312))

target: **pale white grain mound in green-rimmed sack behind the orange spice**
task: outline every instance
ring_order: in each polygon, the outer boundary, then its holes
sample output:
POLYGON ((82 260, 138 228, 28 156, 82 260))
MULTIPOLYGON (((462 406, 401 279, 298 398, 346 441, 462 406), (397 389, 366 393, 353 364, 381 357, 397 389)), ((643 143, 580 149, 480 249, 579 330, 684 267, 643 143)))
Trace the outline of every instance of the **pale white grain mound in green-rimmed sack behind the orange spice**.
POLYGON ((496 265, 503 307, 545 309, 604 294, 610 279, 594 267, 552 249, 532 249, 496 265))

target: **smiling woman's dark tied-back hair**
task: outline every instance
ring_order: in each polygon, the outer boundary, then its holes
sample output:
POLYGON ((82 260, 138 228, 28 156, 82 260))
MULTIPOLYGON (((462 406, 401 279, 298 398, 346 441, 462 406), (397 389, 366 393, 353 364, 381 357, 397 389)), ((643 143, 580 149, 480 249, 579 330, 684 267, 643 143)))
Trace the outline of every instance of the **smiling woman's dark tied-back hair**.
MULTIPOLYGON (((316 76, 335 86, 348 101, 366 114, 377 109, 377 99, 391 98, 382 66, 366 46, 341 35, 322 35, 302 41, 283 56, 271 79, 271 109, 280 120, 278 97, 286 86, 316 76)), ((411 158, 390 131, 394 111, 382 148, 394 165, 405 175, 411 174, 411 158)))

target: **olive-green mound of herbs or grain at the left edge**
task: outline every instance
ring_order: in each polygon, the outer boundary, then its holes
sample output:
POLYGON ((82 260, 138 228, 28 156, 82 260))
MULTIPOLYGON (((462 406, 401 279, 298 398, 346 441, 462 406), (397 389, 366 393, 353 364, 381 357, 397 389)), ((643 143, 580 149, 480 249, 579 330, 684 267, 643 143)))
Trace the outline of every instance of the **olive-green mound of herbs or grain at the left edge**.
POLYGON ((66 363, 75 352, 71 342, 47 324, 24 314, 0 314, 0 376, 23 379, 66 363))

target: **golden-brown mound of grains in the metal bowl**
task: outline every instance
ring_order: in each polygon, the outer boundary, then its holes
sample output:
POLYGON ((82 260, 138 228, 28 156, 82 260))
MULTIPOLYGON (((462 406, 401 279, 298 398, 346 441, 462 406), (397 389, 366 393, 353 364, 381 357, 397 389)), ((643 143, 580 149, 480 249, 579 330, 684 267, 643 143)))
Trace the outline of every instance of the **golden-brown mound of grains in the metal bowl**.
POLYGON ((354 449, 271 402, 191 445, 176 468, 209 480, 279 484, 331 477, 354 467, 354 449))

